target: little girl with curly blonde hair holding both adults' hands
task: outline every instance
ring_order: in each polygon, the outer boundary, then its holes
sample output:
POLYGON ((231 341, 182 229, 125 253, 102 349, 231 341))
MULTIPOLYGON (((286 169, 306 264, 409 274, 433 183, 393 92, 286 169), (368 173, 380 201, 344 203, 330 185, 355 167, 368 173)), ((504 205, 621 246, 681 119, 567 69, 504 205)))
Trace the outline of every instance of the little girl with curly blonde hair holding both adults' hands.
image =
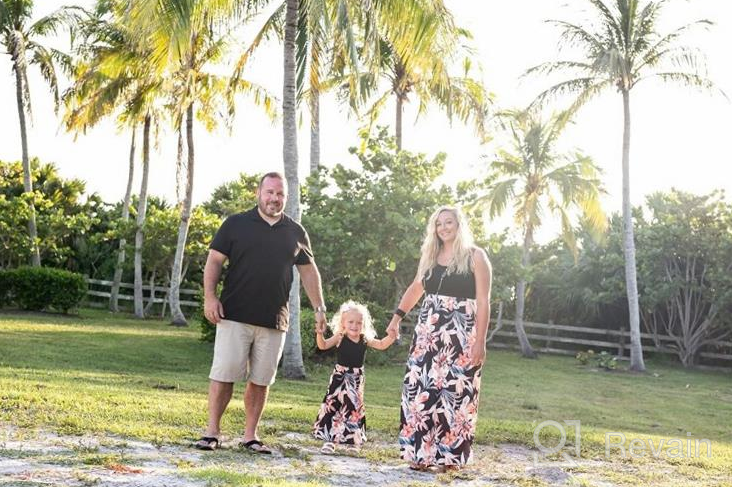
POLYGON ((363 360, 366 347, 386 350, 396 336, 390 334, 376 340, 376 331, 369 310, 354 301, 343 303, 330 322, 333 336, 323 338, 325 325, 316 329, 316 342, 321 350, 335 346, 338 359, 330 376, 328 392, 313 425, 313 434, 323 440, 320 451, 333 453, 335 444, 348 445, 358 451, 366 441, 366 411, 363 405, 363 360))

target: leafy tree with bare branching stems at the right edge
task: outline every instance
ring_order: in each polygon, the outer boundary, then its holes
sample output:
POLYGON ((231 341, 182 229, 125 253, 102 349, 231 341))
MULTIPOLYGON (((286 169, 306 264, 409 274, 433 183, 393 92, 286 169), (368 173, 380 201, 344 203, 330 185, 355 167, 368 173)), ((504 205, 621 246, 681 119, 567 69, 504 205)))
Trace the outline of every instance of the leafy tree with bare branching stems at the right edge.
POLYGON ((643 321, 654 335, 672 336, 689 367, 708 342, 732 335, 732 206, 720 192, 676 190, 647 204, 638 231, 643 321))

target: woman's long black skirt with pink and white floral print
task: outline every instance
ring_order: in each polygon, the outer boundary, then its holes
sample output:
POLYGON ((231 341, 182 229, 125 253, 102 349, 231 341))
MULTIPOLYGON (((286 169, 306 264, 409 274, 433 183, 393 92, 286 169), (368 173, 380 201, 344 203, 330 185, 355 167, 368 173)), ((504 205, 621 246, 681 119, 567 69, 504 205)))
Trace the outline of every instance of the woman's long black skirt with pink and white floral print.
POLYGON ((470 366, 475 299, 425 296, 402 388, 401 456, 423 466, 470 462, 481 367, 470 366))

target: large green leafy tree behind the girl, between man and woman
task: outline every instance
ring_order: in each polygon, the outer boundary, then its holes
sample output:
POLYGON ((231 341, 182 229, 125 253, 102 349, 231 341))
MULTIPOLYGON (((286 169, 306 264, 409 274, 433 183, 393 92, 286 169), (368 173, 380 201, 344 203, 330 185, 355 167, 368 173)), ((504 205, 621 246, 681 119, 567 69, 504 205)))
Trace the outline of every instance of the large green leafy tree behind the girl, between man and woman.
POLYGON ((310 233, 328 305, 346 299, 372 304, 386 320, 414 279, 429 215, 453 204, 447 186, 435 187, 445 154, 399 152, 386 129, 364 142, 360 167, 337 165, 309 179, 303 223, 310 233))

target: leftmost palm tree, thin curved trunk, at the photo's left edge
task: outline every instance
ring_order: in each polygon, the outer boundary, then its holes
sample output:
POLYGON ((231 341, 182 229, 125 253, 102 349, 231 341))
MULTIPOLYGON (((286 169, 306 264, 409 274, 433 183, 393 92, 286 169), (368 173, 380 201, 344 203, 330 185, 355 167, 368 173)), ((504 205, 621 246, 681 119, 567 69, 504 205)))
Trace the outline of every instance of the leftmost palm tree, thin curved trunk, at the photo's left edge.
POLYGON ((35 64, 41 75, 51 86, 54 102, 58 108, 59 92, 56 79, 56 64, 68 65, 68 58, 58 50, 44 47, 38 38, 47 34, 55 34, 64 20, 65 10, 43 17, 31 23, 33 15, 32 0, 0 0, 0 43, 5 54, 10 56, 15 74, 15 101, 20 123, 20 145, 23 161, 23 188, 30 210, 28 218, 28 236, 31 245, 31 264, 41 265, 38 250, 38 230, 36 228, 36 212, 33 204, 33 178, 28 155, 28 133, 26 113, 31 116, 30 86, 28 85, 28 65, 35 64))

